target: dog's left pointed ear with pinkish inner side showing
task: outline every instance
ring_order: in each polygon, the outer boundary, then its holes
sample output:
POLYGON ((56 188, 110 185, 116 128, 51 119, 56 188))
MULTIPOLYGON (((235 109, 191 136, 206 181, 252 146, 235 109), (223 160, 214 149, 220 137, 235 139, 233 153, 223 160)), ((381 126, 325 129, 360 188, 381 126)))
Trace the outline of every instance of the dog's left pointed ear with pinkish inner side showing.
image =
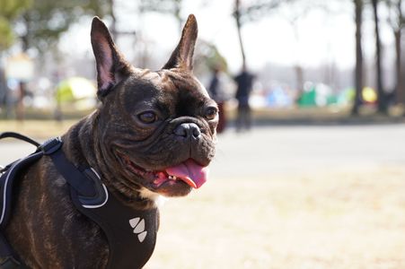
POLYGON ((110 31, 98 17, 92 19, 92 52, 97 67, 97 96, 106 96, 112 88, 128 75, 130 65, 116 48, 110 31))

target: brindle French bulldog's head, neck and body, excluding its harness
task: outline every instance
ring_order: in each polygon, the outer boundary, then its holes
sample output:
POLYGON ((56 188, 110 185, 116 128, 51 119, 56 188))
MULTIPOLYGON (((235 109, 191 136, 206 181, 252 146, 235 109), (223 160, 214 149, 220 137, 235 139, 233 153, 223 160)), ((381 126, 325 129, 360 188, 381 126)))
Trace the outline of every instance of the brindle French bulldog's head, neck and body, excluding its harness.
MULTIPOLYGON (((62 136, 75 166, 92 167, 110 194, 137 209, 200 187, 215 153, 217 107, 192 74, 198 34, 189 19, 159 71, 129 65, 109 30, 92 21, 101 105, 62 136)), ((66 179, 44 156, 21 175, 5 237, 31 268, 105 268, 101 228, 72 204, 66 179)), ((134 253, 136 255, 136 253, 134 253)))

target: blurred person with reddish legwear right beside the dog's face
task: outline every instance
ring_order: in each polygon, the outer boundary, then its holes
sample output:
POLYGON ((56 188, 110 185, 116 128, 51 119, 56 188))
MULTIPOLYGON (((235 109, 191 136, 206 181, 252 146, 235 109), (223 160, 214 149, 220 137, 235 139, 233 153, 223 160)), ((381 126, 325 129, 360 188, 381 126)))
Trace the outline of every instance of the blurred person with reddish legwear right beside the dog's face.
POLYGON ((226 115, 225 115, 225 91, 224 85, 220 80, 221 69, 218 66, 212 68, 212 77, 208 86, 209 96, 218 104, 218 126, 216 126, 216 133, 221 134, 225 131, 226 115))

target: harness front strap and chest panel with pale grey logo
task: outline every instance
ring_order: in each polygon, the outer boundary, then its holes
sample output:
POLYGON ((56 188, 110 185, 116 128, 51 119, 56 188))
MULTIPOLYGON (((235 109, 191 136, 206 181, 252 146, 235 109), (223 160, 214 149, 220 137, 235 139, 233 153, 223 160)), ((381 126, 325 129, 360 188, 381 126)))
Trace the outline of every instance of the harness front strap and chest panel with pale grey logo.
POLYGON ((62 143, 54 138, 41 148, 71 186, 75 207, 105 233, 110 250, 107 268, 142 268, 154 251, 157 208, 136 210, 119 202, 101 183, 95 170, 79 170, 66 159, 60 149, 62 143))

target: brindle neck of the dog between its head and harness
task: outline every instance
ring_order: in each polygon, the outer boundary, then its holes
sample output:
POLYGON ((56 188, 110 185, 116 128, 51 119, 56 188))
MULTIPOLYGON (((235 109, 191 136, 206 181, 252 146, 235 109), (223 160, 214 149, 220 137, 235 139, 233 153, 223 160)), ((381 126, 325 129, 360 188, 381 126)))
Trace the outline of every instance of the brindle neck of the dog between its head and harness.
POLYGON ((94 111, 72 126, 64 135, 64 152, 76 166, 92 167, 101 176, 109 191, 123 203, 137 209, 157 206, 160 195, 145 187, 139 187, 129 180, 117 180, 122 177, 116 168, 108 163, 110 158, 101 150, 101 130, 98 127, 99 114, 94 111))

